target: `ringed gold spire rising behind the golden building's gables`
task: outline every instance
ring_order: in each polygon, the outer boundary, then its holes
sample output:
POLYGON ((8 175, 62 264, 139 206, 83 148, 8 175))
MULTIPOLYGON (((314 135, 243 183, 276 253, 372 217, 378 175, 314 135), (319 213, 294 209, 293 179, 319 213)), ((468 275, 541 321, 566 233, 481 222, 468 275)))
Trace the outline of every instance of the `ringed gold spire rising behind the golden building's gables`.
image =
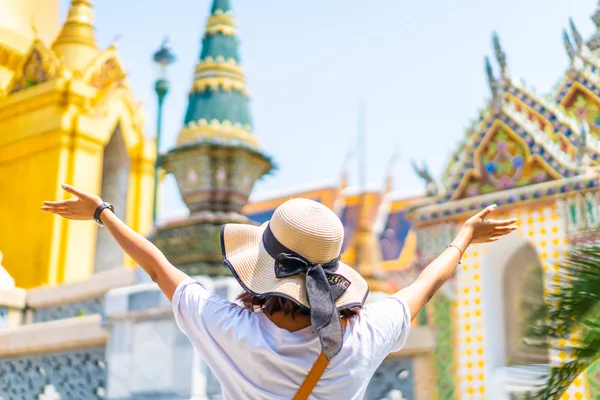
POLYGON ((90 0, 72 0, 60 34, 52 50, 72 71, 81 71, 98 54, 94 35, 94 12, 90 0))

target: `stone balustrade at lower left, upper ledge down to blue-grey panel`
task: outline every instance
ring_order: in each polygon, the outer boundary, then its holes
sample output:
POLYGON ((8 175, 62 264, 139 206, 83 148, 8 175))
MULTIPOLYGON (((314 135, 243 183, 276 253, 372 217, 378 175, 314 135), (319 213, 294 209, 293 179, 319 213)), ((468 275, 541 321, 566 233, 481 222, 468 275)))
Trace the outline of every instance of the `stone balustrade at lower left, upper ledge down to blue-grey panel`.
POLYGON ((31 290, 0 282, 0 399, 105 398, 103 299, 136 281, 132 269, 31 290))

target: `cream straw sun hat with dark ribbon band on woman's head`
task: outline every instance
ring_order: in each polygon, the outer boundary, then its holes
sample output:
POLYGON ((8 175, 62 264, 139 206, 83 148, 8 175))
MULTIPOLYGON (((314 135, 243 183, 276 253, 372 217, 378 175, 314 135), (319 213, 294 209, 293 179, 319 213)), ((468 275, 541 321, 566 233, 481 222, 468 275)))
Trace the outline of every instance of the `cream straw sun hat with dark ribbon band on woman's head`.
POLYGON ((369 293, 364 278, 339 261, 343 238, 344 228, 335 213, 320 203, 298 198, 277 207, 271 220, 260 227, 224 225, 221 248, 225 264, 247 292, 283 296, 307 309, 311 309, 310 282, 306 271, 294 272, 322 266, 335 307, 342 310, 361 307, 369 293), (276 272, 286 260, 295 264, 296 271, 276 272))

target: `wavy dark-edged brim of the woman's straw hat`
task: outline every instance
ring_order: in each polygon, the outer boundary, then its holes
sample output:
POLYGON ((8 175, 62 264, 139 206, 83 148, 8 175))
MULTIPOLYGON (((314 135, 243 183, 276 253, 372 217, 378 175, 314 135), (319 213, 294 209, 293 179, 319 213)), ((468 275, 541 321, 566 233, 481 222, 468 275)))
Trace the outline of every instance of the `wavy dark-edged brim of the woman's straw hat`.
MULTIPOLYGON (((304 274, 289 278, 275 276, 275 259, 262 243, 262 226, 226 224, 221 228, 221 251, 225 265, 237 281, 253 296, 282 296, 310 309, 304 274)), ((336 274, 342 275, 350 286, 335 304, 338 310, 362 307, 369 295, 369 284, 353 268, 340 261, 336 274)))

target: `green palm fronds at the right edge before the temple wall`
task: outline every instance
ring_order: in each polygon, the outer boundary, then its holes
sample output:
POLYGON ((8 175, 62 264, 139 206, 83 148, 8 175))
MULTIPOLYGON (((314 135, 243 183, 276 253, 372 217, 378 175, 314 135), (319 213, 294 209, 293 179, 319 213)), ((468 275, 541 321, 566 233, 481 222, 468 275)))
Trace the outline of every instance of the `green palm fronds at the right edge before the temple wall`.
POLYGON ((569 357, 550 368, 537 398, 559 399, 600 358, 600 231, 587 232, 585 237, 587 243, 573 246, 559 262, 547 304, 528 320, 528 344, 564 351, 569 357), (572 337, 577 340, 564 340, 572 337))

